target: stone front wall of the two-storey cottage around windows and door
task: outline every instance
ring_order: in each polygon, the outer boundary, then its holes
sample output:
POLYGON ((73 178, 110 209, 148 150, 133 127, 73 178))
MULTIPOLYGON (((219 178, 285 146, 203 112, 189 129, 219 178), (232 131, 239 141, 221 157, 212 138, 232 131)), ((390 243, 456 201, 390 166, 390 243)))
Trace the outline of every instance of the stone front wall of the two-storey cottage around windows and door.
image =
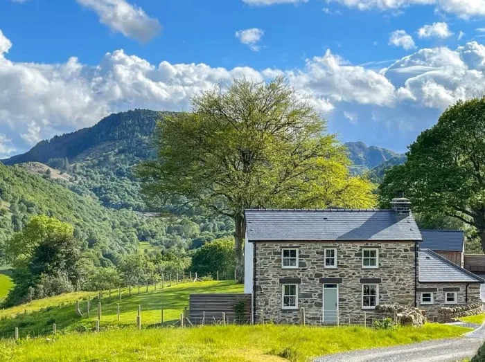
MULTIPOLYGON (((339 282, 340 320, 363 320, 372 310, 362 309, 361 278, 378 278, 379 304, 414 307, 414 242, 256 242, 256 320, 263 310, 265 320, 319 324, 323 314, 323 284, 320 278, 339 282), (379 268, 362 268, 362 248, 379 249, 379 268), (281 268, 281 249, 299 249, 299 268, 281 268), (337 268, 324 268, 324 249, 337 248, 337 268), (282 309, 281 278, 299 278, 298 309, 282 309)), ((330 284, 330 283, 329 283, 330 284)))

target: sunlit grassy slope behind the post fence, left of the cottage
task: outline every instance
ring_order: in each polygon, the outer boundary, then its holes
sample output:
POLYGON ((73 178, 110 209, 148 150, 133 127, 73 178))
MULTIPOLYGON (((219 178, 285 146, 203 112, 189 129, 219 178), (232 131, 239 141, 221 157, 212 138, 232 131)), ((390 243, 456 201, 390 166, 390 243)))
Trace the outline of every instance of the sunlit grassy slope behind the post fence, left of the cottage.
MULTIPOLYGON (((220 282, 186 282, 184 284, 165 285, 161 284, 157 290, 149 287, 148 293, 145 288, 132 288, 131 297, 127 289, 123 289, 122 299, 118 300, 117 291, 109 294, 103 293, 101 300, 101 323, 102 329, 116 326, 134 326, 138 306, 141 305, 143 325, 158 324, 161 321, 161 307, 164 307, 164 322, 179 318, 184 307, 188 307, 188 296, 191 293, 242 293, 243 285, 235 284, 233 281, 220 282), (120 321, 116 318, 116 305, 119 303, 121 309, 120 321)), ((48 334, 53 323, 56 323, 58 330, 84 331, 94 327, 97 318, 98 300, 93 300, 98 293, 76 292, 67 293, 62 296, 33 300, 30 303, 19 305, 8 309, 0 309, 0 337, 11 337, 15 327, 19 327, 21 336, 38 336, 48 334), (87 316, 87 298, 91 298, 91 310, 87 316), (81 300, 80 309, 85 316, 82 318, 76 315, 75 303, 81 300)))

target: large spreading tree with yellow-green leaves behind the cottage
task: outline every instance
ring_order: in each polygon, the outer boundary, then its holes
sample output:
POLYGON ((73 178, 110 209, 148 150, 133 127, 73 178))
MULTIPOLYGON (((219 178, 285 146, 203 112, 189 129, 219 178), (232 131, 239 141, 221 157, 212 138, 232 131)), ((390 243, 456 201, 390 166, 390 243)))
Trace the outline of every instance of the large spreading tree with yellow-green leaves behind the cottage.
POLYGON ((152 201, 182 196, 234 220, 240 281, 246 208, 375 203, 371 183, 349 175, 346 149, 285 79, 233 80, 192 105, 190 113, 159 121, 158 159, 143 163, 139 176, 152 201))

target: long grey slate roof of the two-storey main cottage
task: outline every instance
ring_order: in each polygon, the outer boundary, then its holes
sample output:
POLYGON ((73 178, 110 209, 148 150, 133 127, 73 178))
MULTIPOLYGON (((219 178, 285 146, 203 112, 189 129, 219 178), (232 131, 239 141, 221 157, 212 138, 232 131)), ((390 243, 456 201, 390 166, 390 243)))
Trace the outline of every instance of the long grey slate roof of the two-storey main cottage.
POLYGON ((254 241, 421 241, 412 215, 394 210, 245 210, 247 236, 254 241))

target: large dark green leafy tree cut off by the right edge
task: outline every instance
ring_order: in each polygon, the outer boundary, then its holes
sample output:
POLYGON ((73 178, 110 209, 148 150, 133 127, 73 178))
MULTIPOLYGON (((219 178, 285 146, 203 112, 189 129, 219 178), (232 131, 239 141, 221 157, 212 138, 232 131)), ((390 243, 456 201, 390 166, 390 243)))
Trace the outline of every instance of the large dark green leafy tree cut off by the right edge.
POLYGON ((389 170, 381 202, 402 190, 414 210, 455 217, 477 229, 485 251, 485 98, 459 101, 389 170))

